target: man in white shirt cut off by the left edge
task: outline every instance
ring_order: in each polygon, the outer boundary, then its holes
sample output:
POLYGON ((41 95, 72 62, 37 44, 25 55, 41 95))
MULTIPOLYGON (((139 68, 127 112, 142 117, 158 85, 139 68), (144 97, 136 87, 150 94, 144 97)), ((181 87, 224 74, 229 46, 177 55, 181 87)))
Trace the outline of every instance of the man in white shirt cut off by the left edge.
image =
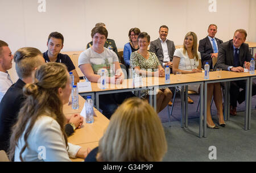
POLYGON ((13 81, 11 81, 7 72, 13 65, 13 54, 11 54, 8 46, 5 41, 0 40, 0 102, 8 88, 13 85, 13 81))

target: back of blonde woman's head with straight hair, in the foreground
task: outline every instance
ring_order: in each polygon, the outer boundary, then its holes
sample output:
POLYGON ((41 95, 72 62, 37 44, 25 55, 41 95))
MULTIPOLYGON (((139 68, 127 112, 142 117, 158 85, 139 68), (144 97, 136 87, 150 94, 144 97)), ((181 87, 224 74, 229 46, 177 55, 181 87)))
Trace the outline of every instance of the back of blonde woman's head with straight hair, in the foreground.
POLYGON ((130 98, 112 115, 99 146, 85 161, 155 162, 162 161, 166 151, 163 126, 154 108, 130 98))

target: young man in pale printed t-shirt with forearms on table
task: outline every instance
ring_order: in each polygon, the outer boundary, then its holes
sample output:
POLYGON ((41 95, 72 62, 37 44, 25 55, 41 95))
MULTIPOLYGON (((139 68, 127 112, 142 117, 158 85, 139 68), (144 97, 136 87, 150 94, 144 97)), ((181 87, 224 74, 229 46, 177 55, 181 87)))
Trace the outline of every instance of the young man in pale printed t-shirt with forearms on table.
MULTIPOLYGON (((107 83, 122 83, 123 73, 119 65, 118 57, 113 50, 104 47, 108 37, 105 27, 94 27, 92 29, 93 45, 79 56, 79 68, 90 82, 100 81, 100 70, 108 70, 107 83)), ((102 113, 110 119, 110 116, 126 98, 134 96, 131 92, 100 95, 100 108, 102 113)))

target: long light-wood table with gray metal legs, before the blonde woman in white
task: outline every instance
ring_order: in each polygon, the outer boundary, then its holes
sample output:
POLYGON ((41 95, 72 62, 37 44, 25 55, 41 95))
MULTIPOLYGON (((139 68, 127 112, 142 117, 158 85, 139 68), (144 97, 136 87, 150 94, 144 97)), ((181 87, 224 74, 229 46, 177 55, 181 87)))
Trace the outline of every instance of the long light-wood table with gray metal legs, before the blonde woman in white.
MULTIPOLYGON (((245 80, 246 81, 246 110, 245 110, 245 125, 244 129, 250 129, 250 117, 251 117, 251 85, 255 75, 250 75, 248 73, 236 73, 233 71, 221 71, 221 77, 217 77, 217 71, 210 71, 210 78, 204 79, 204 73, 193 73, 193 74, 181 74, 180 80, 176 75, 171 74, 170 83, 164 83, 164 78, 162 77, 147 77, 142 78, 141 84, 139 87, 135 87, 133 83, 133 79, 125 79, 122 85, 113 85, 108 84, 108 87, 104 90, 101 90, 99 83, 92 82, 92 91, 82 92, 80 95, 93 95, 93 98, 96 102, 96 108, 99 109, 99 95, 101 94, 110 94, 117 92, 127 92, 127 91, 138 91, 148 89, 152 91, 150 94, 150 104, 154 108, 156 108, 156 90, 158 88, 164 87, 176 87, 181 86, 181 90, 185 92, 181 92, 181 127, 187 127, 188 125, 188 104, 187 104, 187 86, 188 85, 200 85, 200 100, 207 100, 207 84, 214 82, 225 82, 226 91, 229 91, 229 82, 230 81, 238 81, 245 80), (184 94, 184 95, 183 95, 184 94)), ((225 92, 224 95, 225 106, 224 106, 224 116, 225 120, 229 120, 229 92, 225 92)), ((200 102, 200 119, 199 119, 199 137, 207 137, 207 104, 205 102, 200 102), (204 111, 204 116, 203 116, 204 111)), ((168 115, 168 118, 170 115, 168 115)))

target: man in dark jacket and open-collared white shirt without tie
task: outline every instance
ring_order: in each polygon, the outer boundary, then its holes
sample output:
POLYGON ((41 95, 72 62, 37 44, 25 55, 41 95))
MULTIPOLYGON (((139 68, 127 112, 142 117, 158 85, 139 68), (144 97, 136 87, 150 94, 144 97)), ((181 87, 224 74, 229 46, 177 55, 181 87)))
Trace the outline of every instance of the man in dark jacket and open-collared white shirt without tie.
POLYGON ((165 68, 167 65, 172 67, 172 58, 174 57, 175 45, 174 41, 166 39, 168 35, 168 27, 160 26, 159 38, 151 41, 150 52, 154 52, 160 61, 160 64, 165 68))

